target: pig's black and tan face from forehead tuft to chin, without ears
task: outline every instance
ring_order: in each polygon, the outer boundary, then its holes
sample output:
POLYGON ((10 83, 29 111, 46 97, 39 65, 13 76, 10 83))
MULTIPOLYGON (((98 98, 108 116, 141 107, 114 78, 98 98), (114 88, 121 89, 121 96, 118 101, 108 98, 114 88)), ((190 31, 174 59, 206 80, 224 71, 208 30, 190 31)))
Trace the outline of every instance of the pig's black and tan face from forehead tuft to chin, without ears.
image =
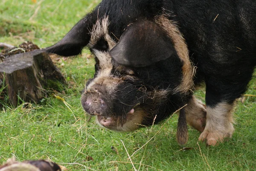
POLYGON ((182 63, 177 54, 145 67, 124 66, 113 59, 111 50, 123 47, 109 35, 107 19, 94 25, 91 34, 95 75, 87 81, 81 104, 87 113, 96 115, 99 125, 131 131, 157 123, 178 109, 181 101, 174 90, 182 78, 182 63))

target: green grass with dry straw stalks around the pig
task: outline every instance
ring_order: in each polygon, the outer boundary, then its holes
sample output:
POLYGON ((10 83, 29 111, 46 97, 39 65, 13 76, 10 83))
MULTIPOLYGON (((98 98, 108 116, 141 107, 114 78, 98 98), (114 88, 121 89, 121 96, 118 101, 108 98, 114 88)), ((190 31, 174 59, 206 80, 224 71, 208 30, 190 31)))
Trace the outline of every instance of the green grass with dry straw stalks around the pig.
MULTIPOLYGON (((97 3, 97 0, 38 0, 37 3, 2 0, 0 42, 18 45, 27 40, 41 48, 50 46, 97 3)), ((6 105, 0 110, 0 163, 15 156, 20 161, 51 159, 65 163, 60 165, 70 171, 132 171, 128 154, 131 156, 146 144, 131 157, 132 162, 139 163, 134 167, 140 171, 256 170, 256 97, 247 96, 244 103, 238 102, 234 114, 236 131, 230 141, 207 147, 198 142, 200 133, 189 128, 186 145, 189 149, 182 151, 175 140, 176 115, 166 123, 132 133, 102 129, 94 119, 86 122, 80 91, 94 70, 93 61, 86 58, 86 53, 57 64, 69 85, 65 92, 56 95, 64 97, 72 112, 53 96, 38 104, 6 105)), ((255 78, 247 94, 256 95, 255 78)), ((204 89, 198 90, 196 96, 204 101, 204 89)))

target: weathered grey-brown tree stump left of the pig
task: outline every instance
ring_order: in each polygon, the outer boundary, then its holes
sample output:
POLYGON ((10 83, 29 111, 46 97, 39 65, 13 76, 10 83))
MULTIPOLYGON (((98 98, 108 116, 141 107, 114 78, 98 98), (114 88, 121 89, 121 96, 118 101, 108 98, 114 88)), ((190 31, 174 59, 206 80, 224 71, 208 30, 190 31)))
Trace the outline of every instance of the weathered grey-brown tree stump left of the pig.
POLYGON ((6 58, 0 64, 1 82, 6 86, 10 103, 17 106, 18 97, 38 102, 45 97, 46 89, 60 90, 65 78, 47 52, 35 50, 6 58))

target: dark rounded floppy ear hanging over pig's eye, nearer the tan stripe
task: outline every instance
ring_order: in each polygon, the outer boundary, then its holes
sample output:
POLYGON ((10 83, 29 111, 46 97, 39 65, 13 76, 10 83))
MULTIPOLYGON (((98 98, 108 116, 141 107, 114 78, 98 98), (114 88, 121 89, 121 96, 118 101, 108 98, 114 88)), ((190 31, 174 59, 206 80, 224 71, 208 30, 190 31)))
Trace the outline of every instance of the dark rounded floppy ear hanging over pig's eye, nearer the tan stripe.
POLYGON ((152 21, 131 24, 110 51, 120 65, 146 67, 169 58, 175 49, 172 40, 152 21))

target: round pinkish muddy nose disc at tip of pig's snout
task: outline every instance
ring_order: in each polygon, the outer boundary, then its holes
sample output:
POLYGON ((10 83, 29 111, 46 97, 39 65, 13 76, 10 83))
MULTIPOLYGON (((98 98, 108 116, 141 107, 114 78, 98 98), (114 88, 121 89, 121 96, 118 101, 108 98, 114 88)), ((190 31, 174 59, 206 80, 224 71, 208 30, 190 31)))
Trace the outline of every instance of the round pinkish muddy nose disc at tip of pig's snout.
POLYGON ((91 115, 104 115, 107 113, 109 106, 107 100, 102 96, 99 87, 92 87, 86 90, 81 97, 84 110, 91 115))

